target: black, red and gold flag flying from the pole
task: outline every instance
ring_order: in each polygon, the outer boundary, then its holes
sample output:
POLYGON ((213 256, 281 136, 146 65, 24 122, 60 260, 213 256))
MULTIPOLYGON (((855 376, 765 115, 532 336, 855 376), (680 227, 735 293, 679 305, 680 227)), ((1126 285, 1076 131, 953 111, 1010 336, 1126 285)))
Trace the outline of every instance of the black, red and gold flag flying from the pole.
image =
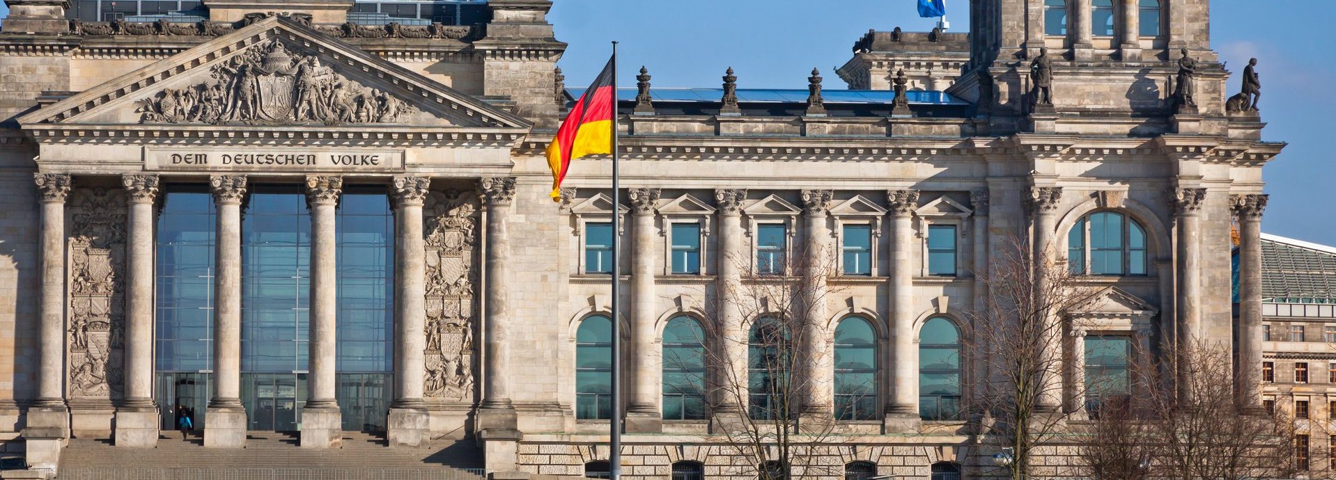
POLYGON ((612 153, 612 116, 617 109, 612 60, 570 107, 570 113, 548 145, 548 167, 552 168, 552 201, 561 201, 561 180, 566 179, 570 160, 597 153, 612 153))

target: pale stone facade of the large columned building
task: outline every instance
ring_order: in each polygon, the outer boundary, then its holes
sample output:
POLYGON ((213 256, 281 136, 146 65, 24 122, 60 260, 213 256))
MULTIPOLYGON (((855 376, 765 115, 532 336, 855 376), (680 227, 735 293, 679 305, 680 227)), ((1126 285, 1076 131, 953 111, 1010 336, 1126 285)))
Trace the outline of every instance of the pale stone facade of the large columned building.
MULTIPOLYGON (((623 112, 636 113, 621 117, 623 205, 612 201, 607 156, 580 160, 561 201, 549 197, 544 151, 564 109, 554 64, 565 48, 546 20, 550 1, 490 0, 485 28, 357 25, 333 4, 269 15, 206 0, 208 21, 139 24, 64 21, 60 3, 9 1, 0 297, 13 301, 0 301, 0 441, 25 445, 29 465, 55 467, 71 436, 156 441, 144 436, 156 427, 147 413, 166 408, 144 380, 154 377, 144 329, 154 309, 143 307, 154 279, 135 273, 151 272, 142 268, 152 248, 136 240, 152 229, 150 184, 214 193, 211 448, 246 441, 236 292, 240 216, 257 183, 307 193, 311 277, 322 284, 333 281, 327 252, 345 185, 387 188, 398 259, 387 440, 473 439, 498 473, 578 476, 608 457, 608 421, 576 415, 576 331, 611 311, 608 276, 589 273, 584 249, 587 227, 613 215, 629 247, 613 261, 628 273, 620 316, 632 345, 624 368, 636 379, 624 399, 631 477, 663 477, 675 461, 699 461, 708 477, 755 476, 725 441, 727 424, 661 419, 659 349, 665 324, 689 316, 717 339, 719 355, 747 355, 725 340, 745 339, 755 319, 719 299, 756 273, 762 225, 784 227, 788 256, 844 248, 846 225, 871 232, 868 275, 814 276, 820 291, 804 312, 823 327, 803 348, 828 349, 847 316, 875 324, 876 412, 834 423, 815 465, 794 472, 806 477, 840 477, 852 461, 878 475, 929 477, 934 464, 989 475, 991 439, 971 435, 966 420, 921 417, 918 329, 946 317, 970 331, 962 312, 982 305, 981 272, 1009 243, 1074 261, 1073 248, 1086 245, 1070 244, 1069 232, 1092 213, 1134 221, 1145 251, 1125 275, 1082 277, 1104 296, 1071 319, 1073 333, 1128 336, 1157 352, 1236 336, 1230 259, 1217 253, 1230 248, 1236 219, 1244 244, 1261 241, 1250 228, 1265 201, 1261 167, 1284 145, 1261 141, 1256 112, 1225 111, 1229 72, 1210 51, 1206 0, 1164 1, 1164 32, 1150 37, 1089 37, 1081 25, 1043 36, 1043 0, 975 1, 970 36, 870 32, 839 71, 854 89, 898 83, 945 91, 942 101, 899 95, 855 105, 815 87, 819 79, 806 104, 778 108, 736 97, 624 101, 623 112), (1035 108, 1030 72, 1043 48, 1053 101, 1035 108), (1193 111, 1173 104, 1181 85, 1166 80, 1180 71, 1180 48, 1197 63, 1193 111), (699 272, 673 273, 675 223, 700 225, 699 272), (955 228, 957 267, 933 273, 927 236, 943 225, 955 228)), ((1120 32, 1137 31, 1133 17, 1118 20, 1120 32)), ((1249 285, 1259 269, 1244 263, 1249 285)), ((1257 300, 1238 321, 1241 371, 1263 361, 1257 300)), ((311 297, 301 440, 310 448, 338 445, 329 301, 311 297)), ((1082 335, 1065 339, 1049 353, 1083 349, 1082 335)), ((974 353, 959 372, 967 413, 990 373, 974 353)), ((1049 379, 1065 389, 1043 400, 1074 423, 1085 415, 1079 365, 1049 379)), ((834 411, 828 371, 804 368, 816 385, 804 397, 814 419, 834 411)), ((1240 388, 1256 391, 1245 380, 1240 388)), ((1061 445, 1050 453, 1035 475, 1075 475, 1061 445)))

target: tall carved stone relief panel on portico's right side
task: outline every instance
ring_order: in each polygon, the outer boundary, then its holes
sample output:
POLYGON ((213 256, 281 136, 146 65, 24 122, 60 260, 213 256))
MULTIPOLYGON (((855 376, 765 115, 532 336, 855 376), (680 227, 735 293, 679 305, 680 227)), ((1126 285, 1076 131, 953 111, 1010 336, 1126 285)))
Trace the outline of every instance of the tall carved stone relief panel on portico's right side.
POLYGON ((473 401, 473 332, 477 199, 472 192, 432 192, 422 208, 426 228, 426 380, 429 399, 473 401))

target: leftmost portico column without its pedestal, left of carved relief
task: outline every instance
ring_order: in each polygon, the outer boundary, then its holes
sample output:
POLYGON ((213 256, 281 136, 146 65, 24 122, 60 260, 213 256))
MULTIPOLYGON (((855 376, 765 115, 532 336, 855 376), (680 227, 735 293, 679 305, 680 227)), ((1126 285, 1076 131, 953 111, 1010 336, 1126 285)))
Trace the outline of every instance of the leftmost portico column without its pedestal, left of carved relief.
POLYGON ((37 173, 35 180, 41 200, 41 365, 35 407, 64 408, 65 197, 72 181, 56 173, 37 173))

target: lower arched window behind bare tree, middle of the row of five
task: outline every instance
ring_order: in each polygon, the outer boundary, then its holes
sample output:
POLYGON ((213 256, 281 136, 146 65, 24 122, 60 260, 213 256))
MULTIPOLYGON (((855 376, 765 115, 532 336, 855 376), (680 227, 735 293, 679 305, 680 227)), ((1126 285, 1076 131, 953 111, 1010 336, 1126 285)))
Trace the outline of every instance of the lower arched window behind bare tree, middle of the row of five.
POLYGON ((779 417, 788 396, 790 339, 784 324, 763 317, 752 324, 747 348, 747 393, 752 419, 779 417))

